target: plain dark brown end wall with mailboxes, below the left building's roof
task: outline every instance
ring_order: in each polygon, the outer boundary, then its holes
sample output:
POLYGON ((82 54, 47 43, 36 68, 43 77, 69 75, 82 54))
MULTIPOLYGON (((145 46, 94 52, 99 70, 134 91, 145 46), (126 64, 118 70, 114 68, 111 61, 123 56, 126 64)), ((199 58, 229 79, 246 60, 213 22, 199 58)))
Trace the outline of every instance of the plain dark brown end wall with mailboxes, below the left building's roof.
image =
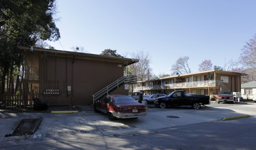
MULTIPOLYGON (((118 63, 40 56, 40 99, 49 105, 91 104, 92 95, 123 76, 118 63), (71 93, 68 93, 71 86, 71 93)), ((118 89, 120 93, 128 90, 118 89)))

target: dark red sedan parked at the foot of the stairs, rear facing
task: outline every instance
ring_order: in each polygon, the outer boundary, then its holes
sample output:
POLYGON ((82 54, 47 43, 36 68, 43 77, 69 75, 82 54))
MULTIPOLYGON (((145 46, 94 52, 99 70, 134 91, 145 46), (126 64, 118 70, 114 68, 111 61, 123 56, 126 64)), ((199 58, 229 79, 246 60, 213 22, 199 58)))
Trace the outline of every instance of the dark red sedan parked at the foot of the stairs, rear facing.
POLYGON ((138 118, 147 114, 144 104, 127 95, 105 95, 94 101, 94 110, 107 114, 110 120, 138 118))

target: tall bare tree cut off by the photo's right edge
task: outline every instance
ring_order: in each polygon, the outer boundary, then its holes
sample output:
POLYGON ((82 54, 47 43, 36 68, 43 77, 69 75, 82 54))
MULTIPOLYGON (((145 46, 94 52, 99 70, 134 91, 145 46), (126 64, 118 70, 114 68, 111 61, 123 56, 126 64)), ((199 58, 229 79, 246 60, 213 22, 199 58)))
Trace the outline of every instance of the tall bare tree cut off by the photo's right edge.
POLYGON ((247 68, 256 68, 256 34, 246 42, 240 54, 240 63, 247 68))

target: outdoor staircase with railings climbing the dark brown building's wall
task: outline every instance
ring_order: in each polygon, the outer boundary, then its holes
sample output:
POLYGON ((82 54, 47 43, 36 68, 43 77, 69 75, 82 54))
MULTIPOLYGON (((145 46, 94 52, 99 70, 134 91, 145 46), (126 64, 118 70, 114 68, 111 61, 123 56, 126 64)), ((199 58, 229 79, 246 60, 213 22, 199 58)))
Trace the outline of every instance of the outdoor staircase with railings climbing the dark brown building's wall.
POLYGON ((94 93, 94 95, 92 95, 93 101, 99 99, 103 95, 108 95, 108 93, 114 91, 115 89, 118 89, 120 85, 136 82, 136 81, 137 81, 137 76, 123 76, 121 78, 118 78, 117 80, 112 82, 110 85, 107 85, 107 87, 104 87, 97 93, 94 93))

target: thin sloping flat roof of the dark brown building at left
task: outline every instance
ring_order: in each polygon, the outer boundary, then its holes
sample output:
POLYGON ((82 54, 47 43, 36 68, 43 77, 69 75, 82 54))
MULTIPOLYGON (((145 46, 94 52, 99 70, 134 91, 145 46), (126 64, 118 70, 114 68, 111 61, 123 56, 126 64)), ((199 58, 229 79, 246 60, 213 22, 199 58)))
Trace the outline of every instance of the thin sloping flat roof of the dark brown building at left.
POLYGON ((105 55, 96 55, 84 52, 72 52, 66 50, 53 50, 47 48, 36 48, 33 47, 33 50, 27 46, 18 46, 21 50, 23 50, 24 55, 36 55, 36 54, 47 54, 47 55, 57 55, 60 57, 68 57, 75 59, 90 59, 94 61, 107 61, 113 63, 123 63, 124 66, 131 65, 133 63, 138 63, 138 59, 128 59, 122 57, 109 57, 105 55))

